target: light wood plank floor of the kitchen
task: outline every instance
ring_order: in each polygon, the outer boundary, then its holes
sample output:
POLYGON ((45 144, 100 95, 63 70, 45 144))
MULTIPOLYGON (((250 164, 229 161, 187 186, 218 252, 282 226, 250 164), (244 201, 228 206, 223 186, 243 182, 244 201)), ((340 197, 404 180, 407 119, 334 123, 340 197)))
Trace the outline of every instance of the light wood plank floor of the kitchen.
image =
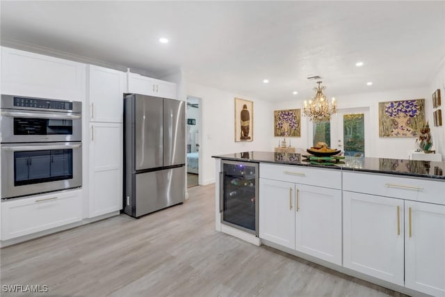
POLYGON ((121 215, 1 252, 1 296, 403 296, 214 230, 214 186, 139 220, 121 215))

